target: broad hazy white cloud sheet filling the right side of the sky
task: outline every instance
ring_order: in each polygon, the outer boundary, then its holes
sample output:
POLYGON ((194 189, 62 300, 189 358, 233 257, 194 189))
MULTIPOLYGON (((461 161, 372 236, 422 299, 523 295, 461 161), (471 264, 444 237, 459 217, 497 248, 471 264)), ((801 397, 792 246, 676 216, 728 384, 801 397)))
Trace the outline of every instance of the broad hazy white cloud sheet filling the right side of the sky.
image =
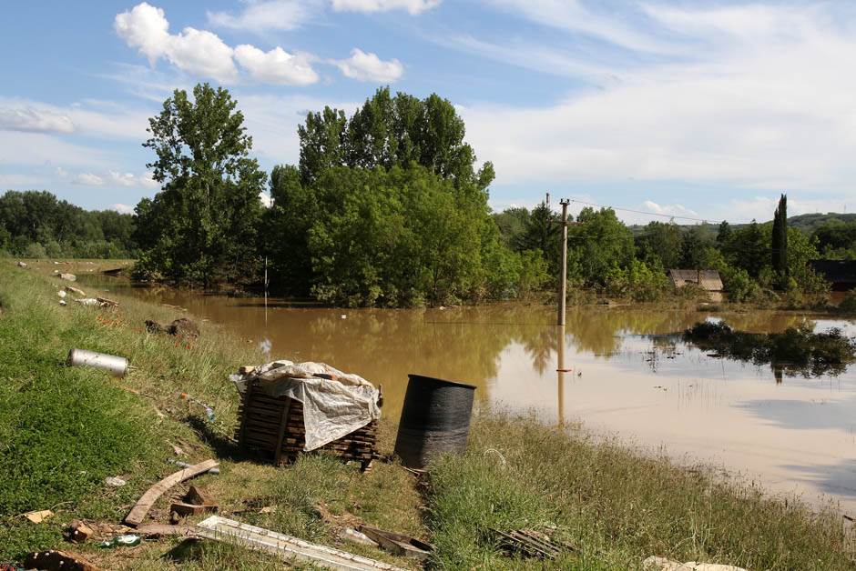
POLYGON ((604 65, 606 85, 584 76, 589 88, 553 105, 461 109, 497 184, 633 179, 852 195, 856 37, 846 26, 776 6, 649 12, 680 58, 604 65))

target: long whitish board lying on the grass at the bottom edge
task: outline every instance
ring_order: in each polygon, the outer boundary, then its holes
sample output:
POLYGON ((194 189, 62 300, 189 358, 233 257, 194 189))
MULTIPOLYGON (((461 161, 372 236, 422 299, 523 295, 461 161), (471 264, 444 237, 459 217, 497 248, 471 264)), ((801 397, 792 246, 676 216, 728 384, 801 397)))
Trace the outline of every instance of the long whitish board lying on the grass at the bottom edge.
POLYGON ((239 545, 280 556, 296 559, 333 569, 352 570, 397 570, 399 567, 375 561, 368 557, 355 556, 339 549, 320 546, 297 537, 286 536, 262 527, 241 524, 232 519, 210 516, 197 526, 200 535, 217 541, 229 541, 239 545))

